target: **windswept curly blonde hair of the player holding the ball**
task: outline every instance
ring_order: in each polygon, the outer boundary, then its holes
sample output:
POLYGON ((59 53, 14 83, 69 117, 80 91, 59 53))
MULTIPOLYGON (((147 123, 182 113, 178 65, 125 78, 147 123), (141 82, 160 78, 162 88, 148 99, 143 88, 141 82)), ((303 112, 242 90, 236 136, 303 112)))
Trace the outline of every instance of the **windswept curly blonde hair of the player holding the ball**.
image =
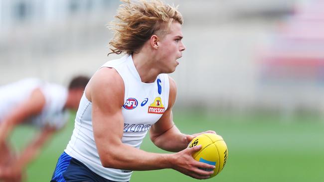
POLYGON ((109 42, 113 48, 110 48, 112 52, 109 54, 131 55, 152 35, 164 36, 173 21, 183 23, 177 7, 164 4, 161 0, 121 1, 125 3, 117 11, 117 21, 109 24, 109 28, 114 31, 114 38, 109 42))

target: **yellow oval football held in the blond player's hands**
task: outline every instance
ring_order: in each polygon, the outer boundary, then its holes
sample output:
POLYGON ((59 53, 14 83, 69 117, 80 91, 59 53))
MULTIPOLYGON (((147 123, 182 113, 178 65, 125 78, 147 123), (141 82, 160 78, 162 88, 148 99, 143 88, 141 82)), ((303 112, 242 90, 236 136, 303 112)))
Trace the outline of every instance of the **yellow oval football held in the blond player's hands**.
MULTIPOLYGON (((188 147, 201 145, 201 149, 192 154, 193 159, 199 162, 215 166, 214 173, 210 178, 219 174, 226 164, 228 151, 223 138, 213 133, 201 134, 189 143, 188 147)), ((203 169, 211 171, 211 169, 203 169)))

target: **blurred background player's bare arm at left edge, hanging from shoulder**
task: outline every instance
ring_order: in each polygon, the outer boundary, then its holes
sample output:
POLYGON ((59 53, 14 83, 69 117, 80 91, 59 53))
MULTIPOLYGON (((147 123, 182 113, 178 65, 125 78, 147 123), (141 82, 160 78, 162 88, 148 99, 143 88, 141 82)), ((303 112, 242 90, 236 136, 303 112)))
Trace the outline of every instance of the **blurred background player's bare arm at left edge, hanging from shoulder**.
POLYGON ((39 114, 45 105, 45 96, 40 89, 32 91, 31 95, 11 110, 0 125, 0 143, 5 142, 11 130, 30 116, 39 114))

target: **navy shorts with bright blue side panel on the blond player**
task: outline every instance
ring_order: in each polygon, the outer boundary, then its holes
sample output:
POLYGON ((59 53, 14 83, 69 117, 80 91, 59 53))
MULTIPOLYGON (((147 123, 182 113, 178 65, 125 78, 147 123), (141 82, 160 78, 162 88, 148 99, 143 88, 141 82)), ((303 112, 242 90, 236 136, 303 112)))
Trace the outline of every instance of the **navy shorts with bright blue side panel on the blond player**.
POLYGON ((51 182, 114 182, 107 180, 86 167, 80 161, 62 153, 57 161, 51 182))

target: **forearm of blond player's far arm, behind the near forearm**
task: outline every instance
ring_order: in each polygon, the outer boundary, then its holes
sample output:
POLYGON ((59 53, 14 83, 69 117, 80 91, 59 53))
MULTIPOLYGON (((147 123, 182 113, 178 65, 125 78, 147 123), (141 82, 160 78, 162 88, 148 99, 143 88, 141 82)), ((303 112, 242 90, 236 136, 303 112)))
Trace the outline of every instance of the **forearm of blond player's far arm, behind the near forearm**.
POLYGON ((156 146, 169 152, 179 152, 188 145, 186 135, 182 134, 175 125, 159 136, 152 136, 151 140, 156 146))

